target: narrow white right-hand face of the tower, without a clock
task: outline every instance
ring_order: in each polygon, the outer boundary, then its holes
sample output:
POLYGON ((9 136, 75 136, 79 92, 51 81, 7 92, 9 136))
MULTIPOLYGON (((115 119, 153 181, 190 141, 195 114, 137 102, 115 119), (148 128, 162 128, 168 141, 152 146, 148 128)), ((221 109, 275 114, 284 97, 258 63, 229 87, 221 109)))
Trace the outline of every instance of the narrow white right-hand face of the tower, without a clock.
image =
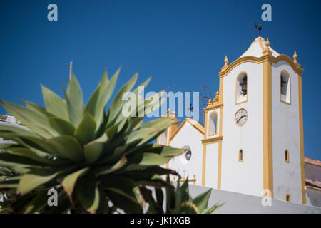
POLYGON ((291 202, 302 203, 300 169, 300 123, 297 74, 285 61, 272 64, 272 159, 273 195, 291 202), (280 101, 280 72, 290 74, 291 104, 280 101), (285 150, 290 162, 285 162, 285 150))

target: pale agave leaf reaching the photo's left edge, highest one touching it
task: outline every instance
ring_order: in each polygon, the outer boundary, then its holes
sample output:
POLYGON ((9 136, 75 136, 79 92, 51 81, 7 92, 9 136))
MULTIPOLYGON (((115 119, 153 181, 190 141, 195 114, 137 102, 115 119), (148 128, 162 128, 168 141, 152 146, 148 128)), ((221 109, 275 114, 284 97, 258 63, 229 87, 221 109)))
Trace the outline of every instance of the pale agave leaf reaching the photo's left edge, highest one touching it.
POLYGON ((51 138, 57 133, 51 128, 46 115, 33 112, 20 105, 0 100, 6 110, 14 115, 23 125, 32 130, 34 133, 41 135, 44 138, 51 138))

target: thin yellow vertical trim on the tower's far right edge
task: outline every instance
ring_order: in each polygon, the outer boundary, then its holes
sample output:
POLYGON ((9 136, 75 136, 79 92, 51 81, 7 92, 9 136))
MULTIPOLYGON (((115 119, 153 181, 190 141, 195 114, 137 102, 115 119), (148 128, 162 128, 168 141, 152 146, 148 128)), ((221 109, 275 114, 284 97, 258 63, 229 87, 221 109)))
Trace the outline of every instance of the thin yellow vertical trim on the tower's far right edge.
POLYGON ((301 166, 301 194, 302 204, 306 204, 305 198, 305 147, 303 140, 303 109, 302 109, 302 76, 298 75, 298 87, 299 87, 299 124, 300 124, 300 166, 301 166))

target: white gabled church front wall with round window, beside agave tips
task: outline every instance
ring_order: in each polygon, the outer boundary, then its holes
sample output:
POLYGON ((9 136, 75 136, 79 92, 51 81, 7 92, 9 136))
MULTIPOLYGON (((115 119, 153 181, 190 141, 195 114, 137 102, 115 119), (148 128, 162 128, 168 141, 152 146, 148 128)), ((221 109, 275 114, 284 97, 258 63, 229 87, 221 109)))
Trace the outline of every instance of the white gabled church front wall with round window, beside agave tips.
POLYGON ((193 175, 195 174, 195 185, 202 184, 202 139, 203 134, 195 129, 193 125, 190 125, 188 121, 186 121, 185 125, 183 125, 180 131, 170 142, 171 147, 182 148, 185 145, 188 145, 190 147, 190 150, 192 152, 190 161, 187 162, 185 160, 185 154, 173 157, 173 159, 171 159, 169 162, 169 168, 176 170, 182 177, 185 173, 186 177, 188 175, 189 179, 193 179, 193 175))

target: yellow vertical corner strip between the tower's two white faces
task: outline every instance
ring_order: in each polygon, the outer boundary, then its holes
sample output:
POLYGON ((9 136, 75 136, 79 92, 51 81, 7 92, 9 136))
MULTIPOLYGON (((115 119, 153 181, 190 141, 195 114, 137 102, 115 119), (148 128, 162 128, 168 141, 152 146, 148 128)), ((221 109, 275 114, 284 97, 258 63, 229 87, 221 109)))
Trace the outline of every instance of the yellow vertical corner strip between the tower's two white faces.
POLYGON ((263 51, 263 189, 273 197, 272 167, 272 53, 263 51), (267 58, 266 58, 267 57, 267 58))

